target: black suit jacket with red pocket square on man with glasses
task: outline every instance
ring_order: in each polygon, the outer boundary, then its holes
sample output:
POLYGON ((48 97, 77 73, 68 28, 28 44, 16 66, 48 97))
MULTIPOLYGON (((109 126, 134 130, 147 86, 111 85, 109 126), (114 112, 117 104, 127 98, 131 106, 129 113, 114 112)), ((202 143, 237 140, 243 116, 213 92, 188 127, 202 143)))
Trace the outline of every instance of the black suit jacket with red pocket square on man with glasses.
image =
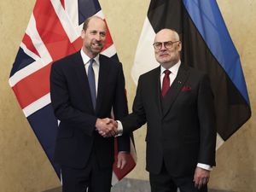
POLYGON ((197 163, 214 166, 216 127, 207 75, 181 65, 164 98, 160 90, 160 67, 141 75, 133 112, 121 119, 124 134, 148 123, 148 172, 158 174, 163 161, 178 177, 193 175, 197 163))

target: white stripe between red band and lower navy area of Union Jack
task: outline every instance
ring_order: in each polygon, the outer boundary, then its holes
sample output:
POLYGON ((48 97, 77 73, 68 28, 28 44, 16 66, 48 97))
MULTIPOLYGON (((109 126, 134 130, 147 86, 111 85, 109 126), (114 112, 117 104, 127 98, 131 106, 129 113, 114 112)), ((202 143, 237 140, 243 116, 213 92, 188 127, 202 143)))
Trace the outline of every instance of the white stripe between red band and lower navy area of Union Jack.
POLYGON ((26 106, 26 108, 23 108, 23 113, 25 113, 25 116, 28 117, 32 113, 35 113, 40 108, 44 108, 44 106, 48 105, 50 103, 50 96, 49 93, 45 96, 42 96, 40 99, 38 99, 35 102, 32 102, 30 105, 26 106))

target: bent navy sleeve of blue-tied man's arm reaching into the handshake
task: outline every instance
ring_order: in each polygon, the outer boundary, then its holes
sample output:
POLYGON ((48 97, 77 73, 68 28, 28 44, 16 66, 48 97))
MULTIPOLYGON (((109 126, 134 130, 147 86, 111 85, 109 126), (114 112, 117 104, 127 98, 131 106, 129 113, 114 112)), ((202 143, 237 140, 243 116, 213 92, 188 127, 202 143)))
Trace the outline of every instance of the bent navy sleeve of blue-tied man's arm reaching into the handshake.
POLYGON ((92 136, 95 130, 96 117, 73 108, 67 88, 67 79, 59 64, 61 63, 54 63, 50 72, 50 98, 55 117, 61 122, 65 122, 65 125, 79 128, 85 134, 92 136))

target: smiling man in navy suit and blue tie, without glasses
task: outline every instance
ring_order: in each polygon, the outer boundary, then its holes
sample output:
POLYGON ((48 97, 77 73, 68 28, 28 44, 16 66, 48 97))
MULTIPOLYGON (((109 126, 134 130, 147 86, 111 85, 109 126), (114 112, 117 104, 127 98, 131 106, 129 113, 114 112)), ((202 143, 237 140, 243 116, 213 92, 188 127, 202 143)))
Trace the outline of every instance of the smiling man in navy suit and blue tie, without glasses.
MULTIPOLYGON (((63 192, 109 192, 116 129, 108 124, 128 113, 122 65, 100 55, 106 42, 104 20, 84 21, 82 49, 55 61, 50 73, 50 95, 61 121, 55 144, 55 161, 61 165, 63 192), (107 118, 107 119, 103 119, 107 118)), ((126 164, 129 135, 118 137, 118 166, 126 164)))

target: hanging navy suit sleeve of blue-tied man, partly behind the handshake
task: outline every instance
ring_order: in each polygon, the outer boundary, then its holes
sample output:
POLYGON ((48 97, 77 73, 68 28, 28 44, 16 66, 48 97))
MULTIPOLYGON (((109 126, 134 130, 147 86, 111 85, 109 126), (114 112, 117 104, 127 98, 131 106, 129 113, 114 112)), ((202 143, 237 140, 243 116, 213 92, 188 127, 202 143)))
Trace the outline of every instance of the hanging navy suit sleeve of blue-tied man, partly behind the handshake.
MULTIPOLYGON (((117 86, 115 92, 115 98, 113 102, 113 114, 115 119, 120 119, 128 114, 127 98, 125 92, 125 77, 123 73, 122 64, 119 64, 119 74, 117 79, 117 86)), ((130 135, 123 135, 117 137, 118 151, 130 152, 130 135)))

